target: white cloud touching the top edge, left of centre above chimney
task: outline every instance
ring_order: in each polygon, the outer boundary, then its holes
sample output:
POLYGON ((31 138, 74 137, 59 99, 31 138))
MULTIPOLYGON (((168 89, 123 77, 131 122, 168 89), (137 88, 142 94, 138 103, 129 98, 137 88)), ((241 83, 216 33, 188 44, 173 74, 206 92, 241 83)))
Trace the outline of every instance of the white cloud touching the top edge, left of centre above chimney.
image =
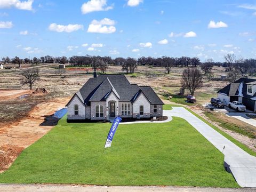
POLYGON ((94 11, 108 11, 113 9, 113 5, 107 6, 107 0, 90 0, 84 3, 81 7, 83 14, 94 11))

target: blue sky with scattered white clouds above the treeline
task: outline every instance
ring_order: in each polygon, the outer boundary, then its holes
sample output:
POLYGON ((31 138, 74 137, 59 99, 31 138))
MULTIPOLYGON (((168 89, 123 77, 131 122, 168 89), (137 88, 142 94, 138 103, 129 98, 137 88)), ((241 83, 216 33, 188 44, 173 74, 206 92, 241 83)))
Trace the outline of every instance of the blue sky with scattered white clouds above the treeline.
POLYGON ((0 0, 0 58, 256 58, 256 0, 0 0))

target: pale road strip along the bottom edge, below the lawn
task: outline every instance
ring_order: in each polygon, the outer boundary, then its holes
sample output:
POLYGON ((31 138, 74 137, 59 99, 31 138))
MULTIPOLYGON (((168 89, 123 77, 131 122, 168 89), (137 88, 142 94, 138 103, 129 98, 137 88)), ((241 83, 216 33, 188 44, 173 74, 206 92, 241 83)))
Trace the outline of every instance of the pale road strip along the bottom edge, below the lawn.
POLYGON ((173 192, 180 192, 180 191, 208 191, 208 192, 252 192, 255 191, 256 188, 210 188, 210 187, 157 187, 157 186, 84 186, 84 185, 52 185, 52 184, 46 184, 46 185, 24 185, 24 184, 0 184, 0 192, 34 192, 34 191, 41 191, 41 192, 57 192, 57 191, 76 191, 76 192, 167 192, 167 191, 173 191, 173 192))

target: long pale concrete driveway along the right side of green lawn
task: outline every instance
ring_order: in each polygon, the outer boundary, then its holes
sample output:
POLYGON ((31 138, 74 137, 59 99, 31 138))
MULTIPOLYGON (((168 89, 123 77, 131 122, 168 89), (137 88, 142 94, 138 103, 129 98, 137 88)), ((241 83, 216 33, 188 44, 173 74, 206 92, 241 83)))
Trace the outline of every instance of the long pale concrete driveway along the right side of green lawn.
POLYGON ((189 124, 195 127, 199 133, 225 155, 225 167, 234 175, 241 187, 256 187, 256 157, 246 153, 185 108, 173 107, 168 113, 171 116, 186 119, 189 124), (224 146, 225 149, 223 150, 224 146))

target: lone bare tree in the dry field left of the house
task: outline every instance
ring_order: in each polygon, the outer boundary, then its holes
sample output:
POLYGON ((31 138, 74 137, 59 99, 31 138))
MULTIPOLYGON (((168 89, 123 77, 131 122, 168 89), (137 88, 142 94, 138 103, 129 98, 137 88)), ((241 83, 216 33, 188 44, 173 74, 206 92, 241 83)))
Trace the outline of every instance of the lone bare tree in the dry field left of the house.
POLYGON ((21 84, 26 85, 29 84, 30 90, 32 89, 32 85, 39 80, 39 70, 38 69, 28 69, 25 71, 22 71, 21 73, 21 84))

